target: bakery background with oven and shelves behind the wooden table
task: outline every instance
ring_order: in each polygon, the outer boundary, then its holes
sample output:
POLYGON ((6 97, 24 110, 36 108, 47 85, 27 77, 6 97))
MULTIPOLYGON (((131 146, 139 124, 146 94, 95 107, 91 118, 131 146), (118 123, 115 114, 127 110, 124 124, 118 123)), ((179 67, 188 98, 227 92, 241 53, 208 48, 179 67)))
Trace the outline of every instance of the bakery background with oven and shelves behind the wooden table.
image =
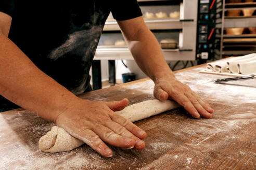
MULTIPOLYGON (((138 0, 138 3, 172 70, 256 51, 253 0, 138 0)), ((134 62, 111 13, 92 68, 94 89, 147 77, 134 62)))

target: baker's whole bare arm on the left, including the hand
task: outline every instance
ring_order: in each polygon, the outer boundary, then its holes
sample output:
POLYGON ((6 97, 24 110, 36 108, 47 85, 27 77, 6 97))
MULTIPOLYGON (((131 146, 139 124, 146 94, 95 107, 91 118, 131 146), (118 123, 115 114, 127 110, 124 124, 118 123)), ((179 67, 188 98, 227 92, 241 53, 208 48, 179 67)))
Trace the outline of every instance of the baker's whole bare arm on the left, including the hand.
POLYGON ((82 100, 44 74, 9 38, 11 17, 0 12, 0 94, 11 102, 55 122, 72 136, 105 157, 113 152, 105 144, 142 150, 146 132, 114 114, 128 100, 82 100))

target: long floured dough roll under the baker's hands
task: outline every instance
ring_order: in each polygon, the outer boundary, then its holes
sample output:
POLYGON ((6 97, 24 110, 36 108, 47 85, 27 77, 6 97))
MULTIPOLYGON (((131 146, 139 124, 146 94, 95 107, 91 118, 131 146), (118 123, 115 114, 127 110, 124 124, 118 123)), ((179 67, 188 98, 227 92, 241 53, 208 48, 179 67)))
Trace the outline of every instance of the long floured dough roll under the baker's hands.
MULTIPOLYGON (((127 106, 121 111, 116 111, 116 114, 135 122, 177 107, 180 107, 180 105, 173 101, 149 100, 127 106)), ((83 144, 82 140, 72 137, 57 126, 53 126, 52 130, 39 140, 39 148, 44 152, 50 153, 69 151, 83 144)))

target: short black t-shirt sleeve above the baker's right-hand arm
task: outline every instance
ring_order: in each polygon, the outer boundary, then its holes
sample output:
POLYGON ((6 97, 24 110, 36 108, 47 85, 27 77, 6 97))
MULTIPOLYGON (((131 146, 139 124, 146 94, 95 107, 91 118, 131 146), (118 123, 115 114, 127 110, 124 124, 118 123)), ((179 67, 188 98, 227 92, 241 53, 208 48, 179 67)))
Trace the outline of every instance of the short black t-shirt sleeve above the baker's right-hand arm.
POLYGON ((111 12, 113 18, 118 21, 142 16, 137 0, 113 0, 111 12))

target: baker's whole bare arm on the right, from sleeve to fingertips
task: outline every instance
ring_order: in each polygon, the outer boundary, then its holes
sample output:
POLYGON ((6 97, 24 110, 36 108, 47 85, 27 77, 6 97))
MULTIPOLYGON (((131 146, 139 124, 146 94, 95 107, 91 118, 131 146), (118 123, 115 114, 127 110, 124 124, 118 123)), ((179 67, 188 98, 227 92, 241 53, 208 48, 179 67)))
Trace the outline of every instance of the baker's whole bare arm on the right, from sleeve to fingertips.
POLYGON ((155 82, 154 95, 159 100, 172 99, 194 118, 212 118, 213 109, 186 84, 178 81, 167 62, 156 37, 143 17, 118 21, 124 39, 143 72, 155 82))

